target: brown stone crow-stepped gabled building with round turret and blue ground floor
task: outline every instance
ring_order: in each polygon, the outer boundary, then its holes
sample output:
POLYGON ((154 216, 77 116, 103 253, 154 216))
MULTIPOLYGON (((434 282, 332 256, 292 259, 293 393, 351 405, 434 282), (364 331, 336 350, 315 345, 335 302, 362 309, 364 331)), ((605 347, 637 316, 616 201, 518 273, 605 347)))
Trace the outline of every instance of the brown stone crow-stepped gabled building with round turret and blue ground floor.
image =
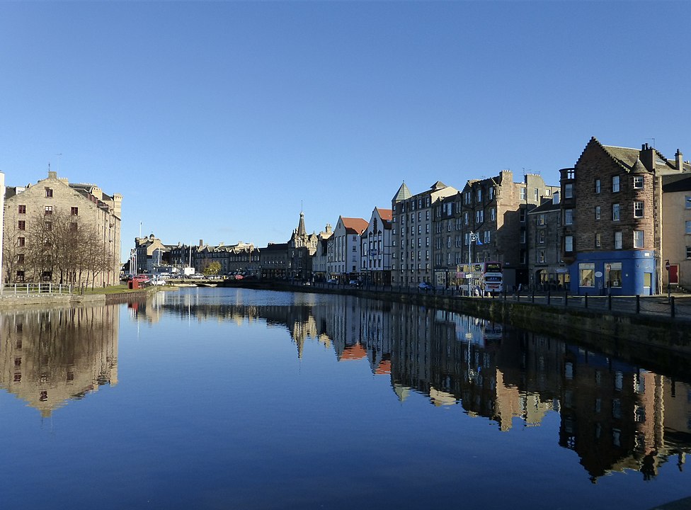
POLYGON ((576 166, 561 170, 563 259, 571 292, 661 292, 663 176, 688 171, 653 147, 590 139, 576 166))

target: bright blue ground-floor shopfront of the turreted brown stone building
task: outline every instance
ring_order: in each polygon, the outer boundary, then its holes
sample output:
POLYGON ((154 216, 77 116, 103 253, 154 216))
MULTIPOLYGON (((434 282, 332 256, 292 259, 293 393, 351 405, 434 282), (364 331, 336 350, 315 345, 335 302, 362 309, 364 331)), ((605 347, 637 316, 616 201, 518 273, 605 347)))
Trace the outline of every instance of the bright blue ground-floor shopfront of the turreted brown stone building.
POLYGON ((581 253, 571 264, 571 293, 578 295, 652 295, 655 285, 652 250, 581 253))

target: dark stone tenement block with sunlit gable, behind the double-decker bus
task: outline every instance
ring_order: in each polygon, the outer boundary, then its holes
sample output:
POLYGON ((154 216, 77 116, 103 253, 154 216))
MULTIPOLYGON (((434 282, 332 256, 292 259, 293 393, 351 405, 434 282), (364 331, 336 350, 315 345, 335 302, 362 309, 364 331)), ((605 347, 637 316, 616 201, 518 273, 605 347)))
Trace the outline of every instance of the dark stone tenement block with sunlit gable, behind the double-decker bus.
POLYGON ((531 256, 527 243, 527 212, 559 186, 548 186, 542 176, 525 174, 513 181, 503 170, 489 179, 471 179, 462 192, 434 203, 435 285, 462 285, 462 264, 500 262, 504 285, 527 285, 531 256))

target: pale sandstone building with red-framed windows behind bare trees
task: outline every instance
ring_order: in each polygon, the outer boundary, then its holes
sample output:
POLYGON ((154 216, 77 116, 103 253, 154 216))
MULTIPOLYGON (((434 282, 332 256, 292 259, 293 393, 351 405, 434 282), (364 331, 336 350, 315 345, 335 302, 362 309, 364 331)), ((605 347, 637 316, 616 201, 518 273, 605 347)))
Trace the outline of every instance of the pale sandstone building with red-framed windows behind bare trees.
POLYGON ((118 283, 121 207, 119 193, 71 184, 55 171, 34 185, 6 188, 5 283, 118 283))

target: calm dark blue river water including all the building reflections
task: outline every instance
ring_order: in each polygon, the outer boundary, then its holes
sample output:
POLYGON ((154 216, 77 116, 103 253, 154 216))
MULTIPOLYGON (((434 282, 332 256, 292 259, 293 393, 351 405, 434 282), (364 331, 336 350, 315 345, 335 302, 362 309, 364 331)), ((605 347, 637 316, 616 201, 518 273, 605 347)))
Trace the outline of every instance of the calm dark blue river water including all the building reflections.
POLYGON ((236 289, 0 316, 0 506, 650 509, 691 378, 459 314, 236 289))

